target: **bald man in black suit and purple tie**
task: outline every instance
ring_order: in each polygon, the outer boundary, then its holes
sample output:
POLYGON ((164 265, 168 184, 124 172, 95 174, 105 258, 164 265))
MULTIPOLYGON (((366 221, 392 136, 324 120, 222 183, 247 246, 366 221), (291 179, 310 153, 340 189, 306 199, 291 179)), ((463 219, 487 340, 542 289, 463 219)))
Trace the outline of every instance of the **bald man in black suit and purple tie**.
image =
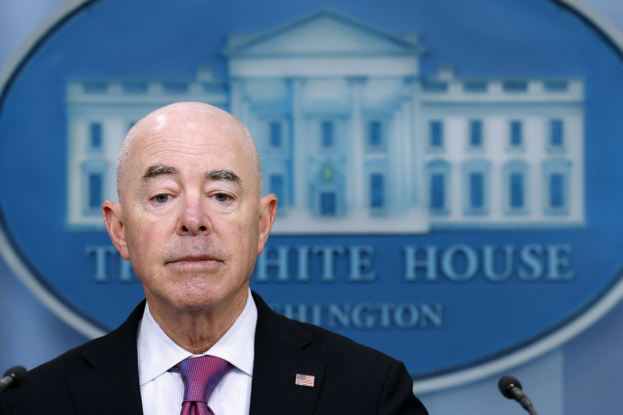
POLYGON ((117 185, 103 217, 146 303, 32 370, 0 414, 426 414, 402 363, 250 292, 277 198, 261 197, 234 117, 202 103, 150 113, 121 145, 117 185))

